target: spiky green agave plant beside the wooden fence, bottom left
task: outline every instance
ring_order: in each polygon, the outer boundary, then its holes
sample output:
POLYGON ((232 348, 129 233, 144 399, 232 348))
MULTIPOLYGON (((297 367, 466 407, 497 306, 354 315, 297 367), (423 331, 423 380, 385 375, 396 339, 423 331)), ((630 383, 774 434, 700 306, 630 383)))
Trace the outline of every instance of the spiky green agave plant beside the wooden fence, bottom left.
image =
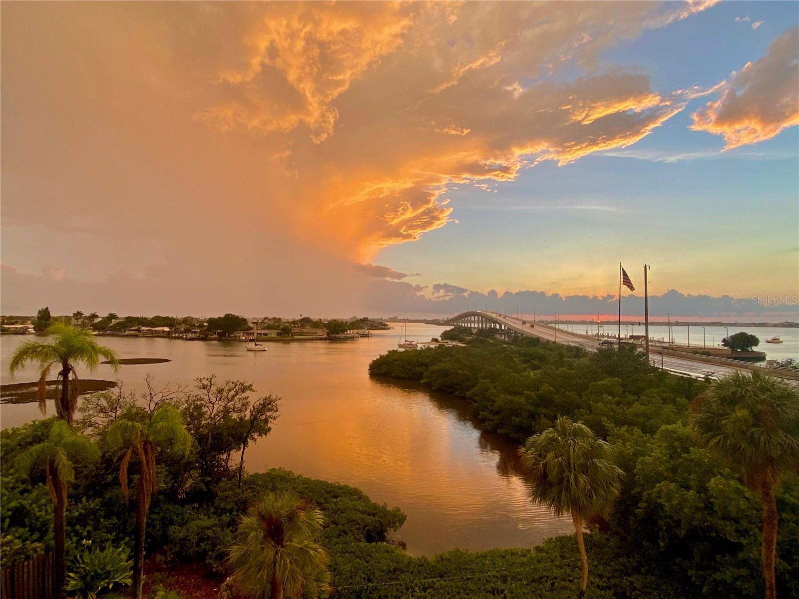
POLYGON ((105 549, 85 549, 78 553, 72 571, 66 575, 66 589, 78 597, 95 599, 104 589, 133 582, 133 561, 125 547, 106 545, 105 549))

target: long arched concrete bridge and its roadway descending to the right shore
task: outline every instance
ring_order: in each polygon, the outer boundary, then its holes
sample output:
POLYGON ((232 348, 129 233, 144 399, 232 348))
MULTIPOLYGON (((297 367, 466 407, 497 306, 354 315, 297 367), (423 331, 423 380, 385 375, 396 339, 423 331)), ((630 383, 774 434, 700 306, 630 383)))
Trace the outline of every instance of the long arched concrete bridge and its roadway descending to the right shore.
MULTIPOLYGON (((547 339, 547 341, 563 343, 564 345, 580 345, 585 347, 586 351, 597 351, 600 347, 598 339, 590 337, 589 335, 563 331, 562 329, 551 327, 548 324, 533 323, 530 320, 523 320, 515 316, 503 315, 491 311, 474 310, 463 312, 447 320, 444 324, 472 328, 498 327, 500 330, 502 327, 507 327, 511 331, 528 337, 539 337, 539 339, 547 339), (531 327, 531 324, 535 326, 531 327)), ((749 370, 745 367, 721 366, 719 364, 709 364, 699 360, 671 355, 662 356, 658 354, 658 348, 655 346, 650 346, 650 359, 654 360, 655 366, 659 367, 662 365, 667 371, 682 375, 690 375, 695 378, 703 378, 705 375, 722 377, 731 375, 735 371, 749 373, 749 370)), ((794 384, 796 383, 794 382, 794 384)))

